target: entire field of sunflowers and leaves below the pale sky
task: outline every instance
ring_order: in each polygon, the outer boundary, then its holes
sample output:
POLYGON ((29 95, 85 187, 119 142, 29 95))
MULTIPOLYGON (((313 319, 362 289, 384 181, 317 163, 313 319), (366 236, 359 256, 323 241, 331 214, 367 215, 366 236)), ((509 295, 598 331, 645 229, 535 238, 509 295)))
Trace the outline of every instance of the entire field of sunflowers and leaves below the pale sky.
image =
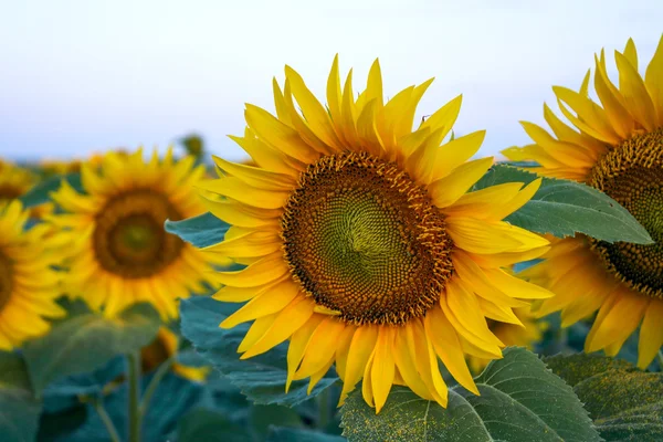
POLYGON ((2 160, 0 442, 663 441, 663 39, 594 61, 498 160, 338 57, 244 162, 2 160))

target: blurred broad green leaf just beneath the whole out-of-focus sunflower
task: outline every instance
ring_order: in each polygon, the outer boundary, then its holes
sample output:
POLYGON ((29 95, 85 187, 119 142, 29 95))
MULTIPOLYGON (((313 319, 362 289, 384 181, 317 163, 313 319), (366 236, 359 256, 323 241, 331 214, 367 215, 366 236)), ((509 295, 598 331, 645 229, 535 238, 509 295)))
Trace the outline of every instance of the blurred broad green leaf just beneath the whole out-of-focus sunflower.
POLYGON ((77 314, 24 347, 30 379, 38 394, 52 381, 102 367, 117 355, 151 343, 159 315, 149 304, 136 304, 114 318, 77 314))

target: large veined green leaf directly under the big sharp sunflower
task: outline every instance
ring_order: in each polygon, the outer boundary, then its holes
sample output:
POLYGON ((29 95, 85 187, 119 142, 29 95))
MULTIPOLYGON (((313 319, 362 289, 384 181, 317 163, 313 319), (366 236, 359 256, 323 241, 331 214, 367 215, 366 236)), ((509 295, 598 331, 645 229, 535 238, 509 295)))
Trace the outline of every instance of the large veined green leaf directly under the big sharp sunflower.
POLYGON ((600 441, 571 387, 538 357, 509 347, 475 378, 481 396, 461 387, 449 389, 449 406, 394 387, 379 414, 360 389, 341 412, 349 441, 600 441))

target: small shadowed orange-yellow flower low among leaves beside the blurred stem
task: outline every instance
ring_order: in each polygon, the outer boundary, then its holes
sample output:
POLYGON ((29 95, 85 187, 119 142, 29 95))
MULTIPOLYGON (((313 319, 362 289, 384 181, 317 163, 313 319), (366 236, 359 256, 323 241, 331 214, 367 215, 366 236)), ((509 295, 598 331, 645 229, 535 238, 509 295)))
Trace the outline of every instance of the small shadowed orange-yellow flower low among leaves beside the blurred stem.
MULTIPOLYGON (((159 333, 155 340, 144 347, 140 350, 140 360, 143 364, 143 371, 149 372, 156 370, 161 364, 169 358, 177 355, 179 348, 179 338, 167 327, 159 328, 159 333)), ((209 371, 209 367, 189 367, 178 362, 172 364, 172 371, 181 376, 182 378, 201 382, 203 381, 209 371)))

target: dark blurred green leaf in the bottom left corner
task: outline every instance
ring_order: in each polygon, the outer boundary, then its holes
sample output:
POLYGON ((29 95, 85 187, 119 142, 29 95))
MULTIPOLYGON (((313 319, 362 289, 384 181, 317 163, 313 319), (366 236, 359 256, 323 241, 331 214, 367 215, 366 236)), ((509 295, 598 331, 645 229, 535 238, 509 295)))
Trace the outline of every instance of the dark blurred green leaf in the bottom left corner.
POLYGON ((0 352, 0 440, 32 442, 36 436, 41 403, 32 394, 23 358, 0 352))

